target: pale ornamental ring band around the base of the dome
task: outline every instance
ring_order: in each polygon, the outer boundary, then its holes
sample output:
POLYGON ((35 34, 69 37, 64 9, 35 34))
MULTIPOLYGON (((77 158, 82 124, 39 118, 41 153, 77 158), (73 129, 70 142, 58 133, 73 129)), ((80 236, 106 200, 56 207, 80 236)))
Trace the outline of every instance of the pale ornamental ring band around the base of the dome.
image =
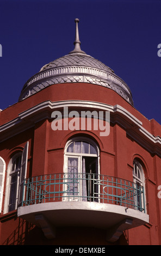
POLYGON ((114 90, 123 99, 133 105, 131 90, 127 84, 113 72, 89 66, 63 66, 42 70, 31 77, 22 89, 19 100, 26 99, 40 90, 59 83, 91 83, 114 90))

